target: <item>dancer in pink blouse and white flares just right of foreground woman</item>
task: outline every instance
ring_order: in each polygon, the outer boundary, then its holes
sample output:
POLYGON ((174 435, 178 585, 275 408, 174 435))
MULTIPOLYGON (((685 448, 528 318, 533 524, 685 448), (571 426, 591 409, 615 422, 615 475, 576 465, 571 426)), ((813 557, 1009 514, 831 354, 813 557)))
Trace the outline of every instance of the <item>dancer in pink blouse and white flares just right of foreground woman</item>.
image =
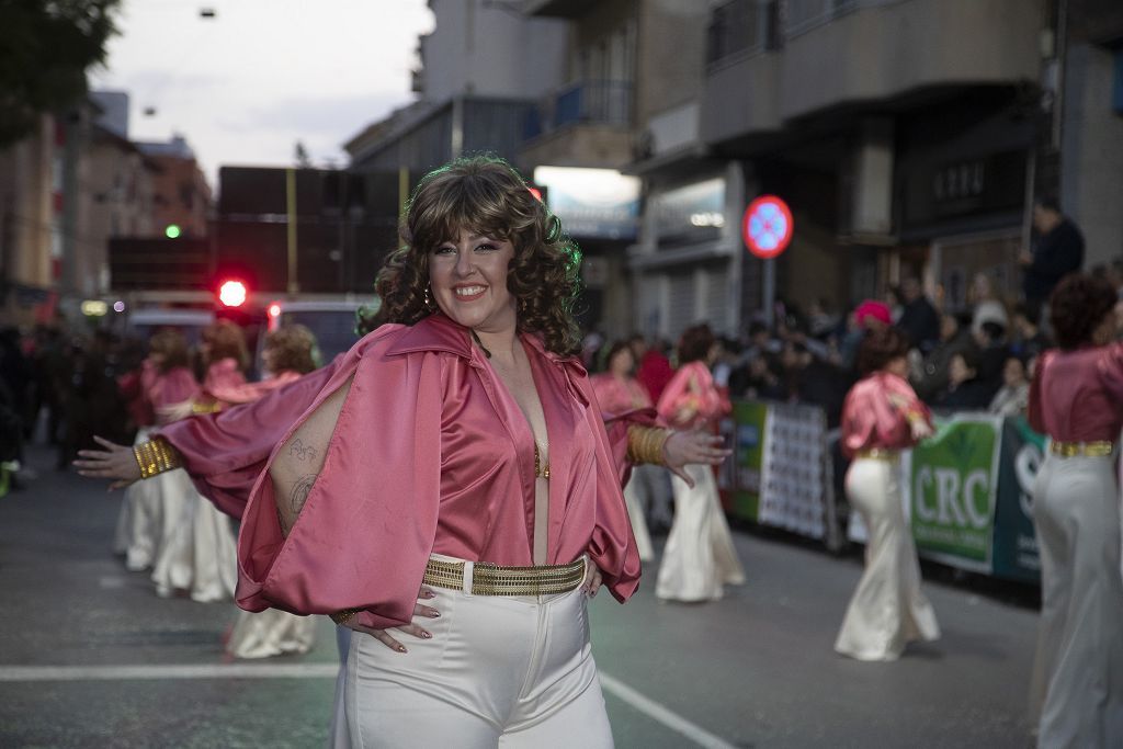
MULTIPOLYGON (((710 327, 687 328, 678 341, 678 371, 659 396, 659 415, 675 429, 705 430, 730 412, 710 365, 718 344, 710 327)), ((672 479, 675 519, 659 565, 655 594, 665 601, 713 601, 724 585, 745 583, 710 466, 687 466, 690 482, 672 479)))

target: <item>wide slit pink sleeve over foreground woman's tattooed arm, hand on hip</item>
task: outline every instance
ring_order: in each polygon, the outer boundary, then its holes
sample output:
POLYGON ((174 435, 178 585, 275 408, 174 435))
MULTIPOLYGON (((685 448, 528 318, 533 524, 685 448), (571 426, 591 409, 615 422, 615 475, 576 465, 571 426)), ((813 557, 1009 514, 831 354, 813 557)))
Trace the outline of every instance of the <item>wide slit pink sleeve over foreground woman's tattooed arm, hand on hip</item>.
POLYGON ((395 329, 401 326, 383 326, 356 344, 270 456, 238 536, 236 597, 243 609, 358 609, 355 621, 374 628, 412 620, 437 528, 441 365, 438 355, 387 356, 395 329), (348 380, 323 467, 285 537, 270 465, 296 427, 348 380))

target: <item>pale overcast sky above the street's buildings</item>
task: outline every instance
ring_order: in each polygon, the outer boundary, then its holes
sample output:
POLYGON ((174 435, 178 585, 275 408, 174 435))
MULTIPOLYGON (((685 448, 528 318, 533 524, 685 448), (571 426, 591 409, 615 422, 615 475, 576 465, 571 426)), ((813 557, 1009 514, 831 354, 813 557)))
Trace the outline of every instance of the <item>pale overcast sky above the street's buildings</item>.
POLYGON ((220 165, 292 164, 298 140, 343 166, 346 140, 412 101, 432 24, 426 0, 125 0, 91 83, 129 93, 131 139, 182 134, 212 186, 220 165))

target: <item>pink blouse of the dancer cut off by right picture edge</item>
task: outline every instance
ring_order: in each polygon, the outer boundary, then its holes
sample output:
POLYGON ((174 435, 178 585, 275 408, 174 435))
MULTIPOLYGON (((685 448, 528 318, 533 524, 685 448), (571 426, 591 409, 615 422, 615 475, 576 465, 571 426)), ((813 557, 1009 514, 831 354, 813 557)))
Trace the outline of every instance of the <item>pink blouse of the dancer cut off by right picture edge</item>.
POLYGON ((1030 384, 1030 426, 1060 442, 1116 441, 1123 427, 1123 342, 1051 349, 1030 384))

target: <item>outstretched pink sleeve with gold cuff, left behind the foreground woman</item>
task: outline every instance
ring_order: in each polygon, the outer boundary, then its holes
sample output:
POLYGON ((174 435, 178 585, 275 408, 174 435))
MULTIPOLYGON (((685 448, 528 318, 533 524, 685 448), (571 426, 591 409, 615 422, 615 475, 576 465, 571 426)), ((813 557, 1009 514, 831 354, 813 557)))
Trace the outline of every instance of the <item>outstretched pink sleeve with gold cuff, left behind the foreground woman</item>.
POLYGON ((325 367, 282 384, 261 400, 161 427, 195 488, 214 506, 240 519, 265 460, 277 441, 331 380, 344 355, 325 367))

